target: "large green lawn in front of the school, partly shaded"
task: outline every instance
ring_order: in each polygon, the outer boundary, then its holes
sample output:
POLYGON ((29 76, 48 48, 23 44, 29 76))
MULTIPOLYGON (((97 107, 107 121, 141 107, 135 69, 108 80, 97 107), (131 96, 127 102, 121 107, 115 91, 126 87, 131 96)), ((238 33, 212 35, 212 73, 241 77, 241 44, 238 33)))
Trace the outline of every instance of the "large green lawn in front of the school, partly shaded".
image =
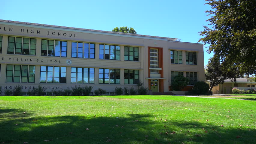
POLYGON ((255 102, 179 96, 0 97, 0 143, 255 143, 255 102))

